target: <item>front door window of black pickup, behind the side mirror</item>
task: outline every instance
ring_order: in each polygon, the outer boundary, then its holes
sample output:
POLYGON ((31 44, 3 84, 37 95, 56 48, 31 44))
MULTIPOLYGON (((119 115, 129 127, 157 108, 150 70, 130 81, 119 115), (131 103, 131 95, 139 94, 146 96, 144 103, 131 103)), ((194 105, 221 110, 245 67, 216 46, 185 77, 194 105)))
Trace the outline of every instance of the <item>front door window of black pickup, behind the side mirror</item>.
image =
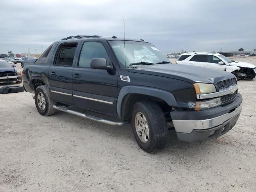
POLYGON ((85 42, 80 53, 78 66, 90 68, 93 58, 105 58, 109 60, 106 49, 100 42, 85 42))

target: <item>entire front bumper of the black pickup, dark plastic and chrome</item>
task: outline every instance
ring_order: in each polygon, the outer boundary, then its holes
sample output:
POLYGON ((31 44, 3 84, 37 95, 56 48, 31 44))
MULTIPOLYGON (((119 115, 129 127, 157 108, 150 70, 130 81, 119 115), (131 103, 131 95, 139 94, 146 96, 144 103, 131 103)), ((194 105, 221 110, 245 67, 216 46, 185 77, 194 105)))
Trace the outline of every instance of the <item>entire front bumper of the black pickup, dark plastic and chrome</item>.
POLYGON ((226 106, 200 112, 171 112, 178 139, 186 142, 197 142, 225 134, 236 124, 242 111, 241 103, 242 96, 238 94, 236 100, 226 106))

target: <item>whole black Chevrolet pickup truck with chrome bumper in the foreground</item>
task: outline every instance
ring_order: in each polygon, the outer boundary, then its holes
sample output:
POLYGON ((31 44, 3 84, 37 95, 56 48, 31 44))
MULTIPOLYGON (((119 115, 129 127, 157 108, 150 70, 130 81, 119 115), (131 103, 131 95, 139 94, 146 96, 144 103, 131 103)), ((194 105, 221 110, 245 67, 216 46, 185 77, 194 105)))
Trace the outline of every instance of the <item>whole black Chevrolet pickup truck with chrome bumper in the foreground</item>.
POLYGON ((23 84, 44 116, 60 110, 114 126, 131 122, 146 152, 165 146, 169 128, 186 142, 221 136, 242 110, 233 74, 172 64, 154 45, 116 36, 54 42, 24 61, 23 84))

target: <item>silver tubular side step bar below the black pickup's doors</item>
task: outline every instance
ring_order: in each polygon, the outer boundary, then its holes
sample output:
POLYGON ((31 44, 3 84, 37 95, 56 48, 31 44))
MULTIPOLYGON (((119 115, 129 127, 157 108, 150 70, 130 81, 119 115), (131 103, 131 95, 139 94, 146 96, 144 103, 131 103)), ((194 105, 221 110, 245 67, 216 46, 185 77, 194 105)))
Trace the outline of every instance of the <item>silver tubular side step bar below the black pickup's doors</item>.
POLYGON ((52 107, 54 109, 60 110, 62 112, 66 112, 66 113, 69 113, 69 114, 72 114, 72 115, 80 116, 80 117, 83 117, 83 118, 86 118, 86 119, 90 119, 90 120, 93 120, 93 121, 96 121, 96 122, 101 122, 101 123, 112 125, 112 126, 123 126, 124 124, 128 123, 127 121, 120 121, 120 122, 110 121, 110 120, 98 118, 98 117, 95 117, 95 116, 86 115, 84 113, 68 109, 65 106, 53 105, 52 107))

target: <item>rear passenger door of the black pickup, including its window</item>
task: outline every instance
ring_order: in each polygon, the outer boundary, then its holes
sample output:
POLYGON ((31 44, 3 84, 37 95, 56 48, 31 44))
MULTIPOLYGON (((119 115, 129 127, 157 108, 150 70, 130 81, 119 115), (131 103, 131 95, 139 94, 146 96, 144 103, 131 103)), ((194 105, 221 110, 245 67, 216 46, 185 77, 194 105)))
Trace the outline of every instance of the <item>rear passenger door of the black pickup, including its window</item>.
POLYGON ((77 42, 61 43, 49 69, 49 85, 52 99, 73 104, 72 75, 75 65, 77 42))

